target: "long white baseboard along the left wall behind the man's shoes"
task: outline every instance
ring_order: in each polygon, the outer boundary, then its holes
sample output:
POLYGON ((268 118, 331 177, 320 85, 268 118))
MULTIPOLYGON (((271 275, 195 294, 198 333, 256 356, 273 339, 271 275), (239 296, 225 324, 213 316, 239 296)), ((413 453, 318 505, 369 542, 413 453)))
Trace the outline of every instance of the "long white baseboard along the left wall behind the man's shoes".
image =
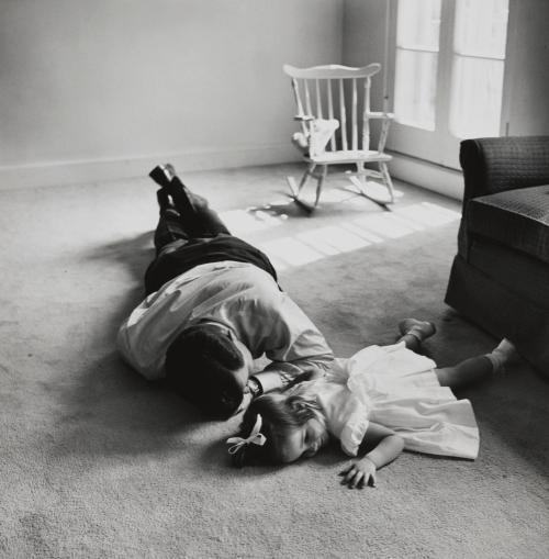
POLYGON ((146 177, 155 165, 166 161, 172 163, 178 171, 197 171, 298 160, 295 148, 288 142, 112 159, 14 165, 0 167, 0 190, 146 177))

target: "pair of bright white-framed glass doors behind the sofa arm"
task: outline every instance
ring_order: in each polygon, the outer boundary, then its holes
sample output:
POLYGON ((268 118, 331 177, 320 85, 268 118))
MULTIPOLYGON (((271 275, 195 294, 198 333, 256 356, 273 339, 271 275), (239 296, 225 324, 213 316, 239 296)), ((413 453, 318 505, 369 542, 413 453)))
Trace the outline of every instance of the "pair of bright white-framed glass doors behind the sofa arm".
POLYGON ((500 135, 508 1, 397 0, 389 149, 459 169, 462 138, 500 135))

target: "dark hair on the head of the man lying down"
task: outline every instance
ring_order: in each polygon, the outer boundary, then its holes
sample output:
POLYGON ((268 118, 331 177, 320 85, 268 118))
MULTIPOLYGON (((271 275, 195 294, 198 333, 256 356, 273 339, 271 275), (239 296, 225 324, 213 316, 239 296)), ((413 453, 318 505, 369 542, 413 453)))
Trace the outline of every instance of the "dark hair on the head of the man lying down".
POLYGON ((234 372, 242 354, 223 329, 198 324, 183 329, 166 353, 167 383, 202 412, 227 418, 238 409, 243 388, 234 372))

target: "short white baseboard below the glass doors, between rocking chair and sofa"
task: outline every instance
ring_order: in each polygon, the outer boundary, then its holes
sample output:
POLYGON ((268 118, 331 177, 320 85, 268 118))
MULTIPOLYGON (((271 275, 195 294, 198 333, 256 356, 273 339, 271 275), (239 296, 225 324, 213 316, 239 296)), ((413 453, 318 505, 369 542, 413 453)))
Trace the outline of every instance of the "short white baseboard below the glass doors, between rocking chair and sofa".
POLYGON ((433 190, 456 200, 463 199, 463 175, 461 171, 396 152, 389 153, 393 156, 392 161, 389 163, 389 172, 394 179, 433 190))

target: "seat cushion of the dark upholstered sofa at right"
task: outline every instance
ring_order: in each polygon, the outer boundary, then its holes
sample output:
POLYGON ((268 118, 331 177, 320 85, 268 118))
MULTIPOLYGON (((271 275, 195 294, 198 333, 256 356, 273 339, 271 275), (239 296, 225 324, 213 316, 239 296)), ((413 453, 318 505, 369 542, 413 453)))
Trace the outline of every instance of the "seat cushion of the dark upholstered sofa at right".
POLYGON ((469 231, 549 264, 549 186, 474 198, 469 231))

